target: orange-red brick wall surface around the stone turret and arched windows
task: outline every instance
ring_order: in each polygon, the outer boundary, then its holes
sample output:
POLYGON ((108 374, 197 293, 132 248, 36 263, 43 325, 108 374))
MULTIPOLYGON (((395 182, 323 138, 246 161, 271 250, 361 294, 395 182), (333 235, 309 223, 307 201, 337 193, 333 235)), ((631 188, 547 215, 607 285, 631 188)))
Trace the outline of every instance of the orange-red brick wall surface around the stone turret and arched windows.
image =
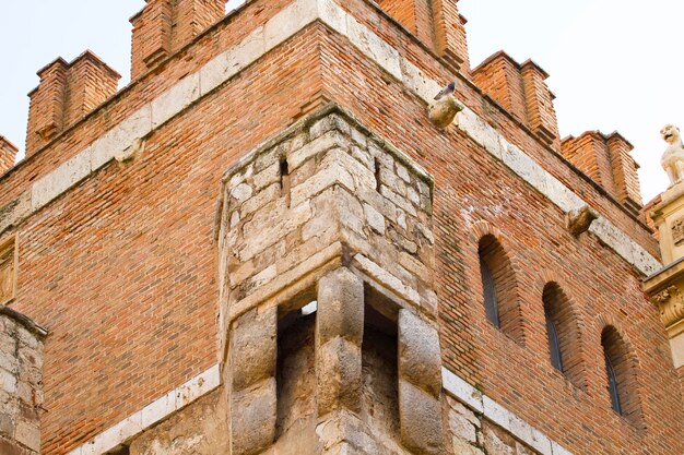
MULTIPOLYGON (((85 149, 288 3, 249 2, 160 62, 1 177, 0 202, 11 204, 33 179, 85 149)), ((443 85, 456 79, 458 99, 657 254, 650 231, 634 213, 568 166, 515 112, 455 76, 375 5, 352 0, 340 7, 428 77, 443 85)), ((321 99, 337 101, 435 178, 433 279, 446 367, 573 452, 676 453, 681 404, 672 391, 679 381, 640 275, 593 234, 571 236, 557 206, 460 129, 434 129, 423 100, 320 22, 155 127, 134 159, 106 164, 9 227, 20 234, 12 304, 52 333, 45 346, 44 453, 67 453, 222 357, 215 218, 223 172, 321 99), (476 235, 484 231, 498 232, 509 258, 519 290, 512 303, 520 313, 520 338, 484 315, 476 235), (586 388, 549 360, 543 289, 550 282, 574 306, 586 388), (611 410, 601 346, 609 325, 621 331, 637 359, 645 432, 611 410)))

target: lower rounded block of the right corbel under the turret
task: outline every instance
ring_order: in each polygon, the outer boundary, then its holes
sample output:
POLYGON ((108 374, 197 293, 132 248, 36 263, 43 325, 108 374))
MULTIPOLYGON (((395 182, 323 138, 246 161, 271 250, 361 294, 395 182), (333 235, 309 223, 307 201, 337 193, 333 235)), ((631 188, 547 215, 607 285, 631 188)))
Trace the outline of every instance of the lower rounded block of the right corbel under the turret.
POLYGON ((438 399, 399 380, 399 415, 404 445, 418 454, 441 454, 444 433, 438 399))

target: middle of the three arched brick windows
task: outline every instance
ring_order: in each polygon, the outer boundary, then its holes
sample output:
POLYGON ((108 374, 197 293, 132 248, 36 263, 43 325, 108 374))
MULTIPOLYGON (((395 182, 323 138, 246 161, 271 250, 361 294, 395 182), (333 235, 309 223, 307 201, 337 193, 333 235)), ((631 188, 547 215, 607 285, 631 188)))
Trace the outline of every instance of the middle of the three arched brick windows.
POLYGON ((551 364, 576 386, 587 386, 581 359, 581 336, 569 299, 557 283, 542 292, 551 364))

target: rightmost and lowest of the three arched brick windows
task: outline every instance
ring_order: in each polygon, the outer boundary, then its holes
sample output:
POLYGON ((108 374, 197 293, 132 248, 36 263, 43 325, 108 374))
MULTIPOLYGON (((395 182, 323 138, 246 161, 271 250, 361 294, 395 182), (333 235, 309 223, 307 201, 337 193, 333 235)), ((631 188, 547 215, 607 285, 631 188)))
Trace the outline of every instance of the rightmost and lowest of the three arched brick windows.
POLYGON ((617 330, 606 326, 601 333, 605 361, 608 393, 613 410, 634 424, 642 422, 641 405, 637 393, 636 366, 617 330))

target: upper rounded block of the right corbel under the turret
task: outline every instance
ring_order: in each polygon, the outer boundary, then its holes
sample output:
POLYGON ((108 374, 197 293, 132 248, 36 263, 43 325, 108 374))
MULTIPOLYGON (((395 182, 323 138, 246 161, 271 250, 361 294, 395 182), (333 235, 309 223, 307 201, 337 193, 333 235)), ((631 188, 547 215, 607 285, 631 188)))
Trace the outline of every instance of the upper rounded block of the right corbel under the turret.
POLYGON ((439 333, 409 310, 399 311, 399 376, 439 397, 441 393, 439 333))

